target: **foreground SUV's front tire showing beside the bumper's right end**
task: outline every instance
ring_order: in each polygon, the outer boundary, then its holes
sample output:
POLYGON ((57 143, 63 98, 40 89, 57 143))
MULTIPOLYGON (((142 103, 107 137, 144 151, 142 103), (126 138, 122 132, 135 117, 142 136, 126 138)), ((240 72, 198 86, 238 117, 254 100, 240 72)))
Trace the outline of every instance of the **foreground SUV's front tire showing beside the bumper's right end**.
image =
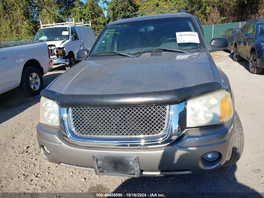
POLYGON ((230 160, 227 160, 223 166, 230 166, 235 164, 241 157, 244 148, 244 132, 241 121, 237 112, 235 111, 235 123, 233 131, 233 149, 230 160))

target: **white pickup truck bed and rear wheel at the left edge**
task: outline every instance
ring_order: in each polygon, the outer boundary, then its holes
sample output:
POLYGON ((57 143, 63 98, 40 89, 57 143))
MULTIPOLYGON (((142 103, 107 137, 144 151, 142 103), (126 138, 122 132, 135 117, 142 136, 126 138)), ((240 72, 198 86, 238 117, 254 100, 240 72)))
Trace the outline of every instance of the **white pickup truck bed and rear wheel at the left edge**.
POLYGON ((19 87, 26 95, 38 95, 42 76, 51 69, 45 42, 0 45, 0 94, 19 87))

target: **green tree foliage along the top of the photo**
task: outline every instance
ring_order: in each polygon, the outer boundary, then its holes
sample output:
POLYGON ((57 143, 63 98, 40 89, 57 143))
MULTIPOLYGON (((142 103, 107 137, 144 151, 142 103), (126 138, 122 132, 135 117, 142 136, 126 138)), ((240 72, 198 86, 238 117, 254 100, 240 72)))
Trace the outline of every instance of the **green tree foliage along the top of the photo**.
MULTIPOLYGON (((264 0, 0 0, 0 42, 6 40, 29 40, 42 23, 91 20, 98 34, 106 23, 120 16, 158 8, 184 8, 196 16, 202 25, 219 24, 223 20, 264 13, 264 0), (107 11, 105 17, 103 11, 107 11)), ((155 11, 138 14, 158 14, 155 11)), ((177 12, 177 11, 171 11, 177 12)))

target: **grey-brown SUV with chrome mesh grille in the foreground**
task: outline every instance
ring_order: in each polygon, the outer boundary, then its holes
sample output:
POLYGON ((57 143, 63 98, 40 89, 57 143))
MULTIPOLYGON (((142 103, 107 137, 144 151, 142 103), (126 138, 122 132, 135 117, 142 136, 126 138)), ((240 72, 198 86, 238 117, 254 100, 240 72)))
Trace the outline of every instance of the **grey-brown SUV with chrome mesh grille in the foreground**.
POLYGON ((109 23, 77 53, 85 60, 42 90, 37 140, 47 160, 131 177, 237 162, 242 125, 210 55, 227 39, 207 46, 198 19, 174 9, 109 23))

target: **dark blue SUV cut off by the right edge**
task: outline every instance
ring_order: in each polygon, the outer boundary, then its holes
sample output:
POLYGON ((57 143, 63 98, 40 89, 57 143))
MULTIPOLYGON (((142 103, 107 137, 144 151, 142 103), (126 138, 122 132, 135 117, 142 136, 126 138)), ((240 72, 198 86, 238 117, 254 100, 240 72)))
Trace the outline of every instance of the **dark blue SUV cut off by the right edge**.
POLYGON ((264 18, 248 20, 234 39, 234 61, 245 58, 249 71, 259 74, 264 68, 264 18))

